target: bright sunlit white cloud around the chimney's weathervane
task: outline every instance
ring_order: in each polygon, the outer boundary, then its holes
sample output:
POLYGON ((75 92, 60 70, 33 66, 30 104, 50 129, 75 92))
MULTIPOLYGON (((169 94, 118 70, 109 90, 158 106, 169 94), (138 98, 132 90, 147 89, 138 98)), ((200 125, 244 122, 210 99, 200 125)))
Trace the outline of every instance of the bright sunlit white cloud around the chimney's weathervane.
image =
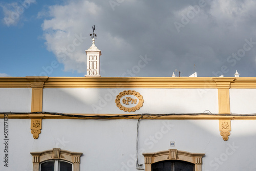
MULTIPOLYGON (((101 11, 100 6, 88 1, 49 7, 51 19, 44 20, 42 30, 44 30, 47 49, 55 54, 59 62, 63 63, 65 71, 86 73, 87 57, 84 51, 91 46, 92 40, 89 33, 92 32, 92 25, 98 22, 98 18, 103 17, 104 14, 101 11)), ((128 46, 124 39, 112 36, 108 32, 101 33, 101 40, 116 48, 128 46)), ((95 44, 97 46, 97 40, 95 44)))

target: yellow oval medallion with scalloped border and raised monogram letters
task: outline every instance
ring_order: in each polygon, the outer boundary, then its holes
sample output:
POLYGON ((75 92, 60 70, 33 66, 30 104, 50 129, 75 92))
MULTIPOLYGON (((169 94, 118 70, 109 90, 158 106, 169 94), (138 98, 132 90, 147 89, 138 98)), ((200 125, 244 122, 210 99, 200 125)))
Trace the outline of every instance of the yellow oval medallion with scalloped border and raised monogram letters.
POLYGON ((134 90, 125 90, 116 96, 116 106, 124 112, 135 112, 142 107, 144 102, 142 95, 134 90))

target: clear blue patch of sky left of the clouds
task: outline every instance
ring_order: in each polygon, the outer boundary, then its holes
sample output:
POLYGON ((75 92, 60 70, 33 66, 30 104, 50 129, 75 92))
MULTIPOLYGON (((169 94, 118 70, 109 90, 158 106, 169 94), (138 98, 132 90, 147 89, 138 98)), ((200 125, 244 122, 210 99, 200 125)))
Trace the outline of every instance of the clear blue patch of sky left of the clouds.
MULTIPOLYGON (((17 3, 18 6, 24 1, 2 1, 2 5, 17 3)), ((54 54, 46 49, 45 40, 41 24, 44 18, 38 18, 38 12, 45 7, 60 4, 57 1, 36 1, 24 8, 20 16, 16 19, 17 24, 6 25, 4 13, 1 11, 2 24, 0 25, 0 47, 2 51, 0 62, 0 73, 9 76, 44 76, 45 70, 42 67, 51 65, 51 61, 56 60, 54 54)), ((3 9, 3 8, 2 8, 3 9)), ((14 7, 14 10, 17 9, 14 7)), ((52 72, 54 76, 70 75, 69 72, 61 70, 63 65, 52 72)), ((49 70, 50 72, 50 70, 49 70)), ((70 76, 72 76, 71 73, 70 76)))

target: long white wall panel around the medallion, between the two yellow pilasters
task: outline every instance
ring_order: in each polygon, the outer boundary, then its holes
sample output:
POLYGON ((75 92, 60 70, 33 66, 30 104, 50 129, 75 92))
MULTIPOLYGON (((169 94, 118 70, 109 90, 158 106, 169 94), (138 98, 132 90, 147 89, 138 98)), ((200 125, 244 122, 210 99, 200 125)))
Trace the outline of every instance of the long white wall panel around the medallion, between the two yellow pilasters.
POLYGON ((217 89, 44 89, 45 112, 131 114, 117 108, 116 96, 135 90, 144 99, 142 113, 218 113, 217 89))

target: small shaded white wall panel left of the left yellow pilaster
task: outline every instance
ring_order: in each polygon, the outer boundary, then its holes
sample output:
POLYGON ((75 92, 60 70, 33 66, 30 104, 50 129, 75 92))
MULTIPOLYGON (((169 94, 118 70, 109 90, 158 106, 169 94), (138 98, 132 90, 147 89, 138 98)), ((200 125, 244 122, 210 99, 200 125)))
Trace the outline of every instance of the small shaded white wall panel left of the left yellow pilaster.
POLYGON ((31 112, 30 88, 0 89, 0 112, 31 112))

